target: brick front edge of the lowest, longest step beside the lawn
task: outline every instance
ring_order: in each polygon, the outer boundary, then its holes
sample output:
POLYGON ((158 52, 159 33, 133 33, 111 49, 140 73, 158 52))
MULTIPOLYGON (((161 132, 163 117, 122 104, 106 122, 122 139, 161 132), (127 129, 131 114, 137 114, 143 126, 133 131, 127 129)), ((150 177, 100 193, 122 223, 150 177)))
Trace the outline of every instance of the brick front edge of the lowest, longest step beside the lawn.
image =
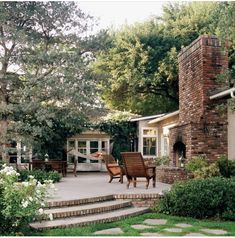
POLYGON ((139 211, 139 212, 133 212, 132 214, 128 215, 121 215, 117 217, 111 217, 111 218, 104 218, 101 220, 95 220, 95 221, 87 221, 87 222, 80 222, 80 223, 74 223, 74 224, 67 224, 67 225, 59 225, 59 226, 51 226, 51 227, 41 227, 41 228, 34 228, 36 230, 48 230, 48 229, 55 229, 55 228, 68 228, 68 227, 74 227, 74 226, 87 226, 87 225, 92 225, 92 224, 101 224, 101 223, 107 223, 107 222, 113 222, 113 221, 119 221, 124 218, 132 217, 132 216, 138 216, 141 214, 144 214, 148 212, 150 209, 144 210, 144 211, 139 211))

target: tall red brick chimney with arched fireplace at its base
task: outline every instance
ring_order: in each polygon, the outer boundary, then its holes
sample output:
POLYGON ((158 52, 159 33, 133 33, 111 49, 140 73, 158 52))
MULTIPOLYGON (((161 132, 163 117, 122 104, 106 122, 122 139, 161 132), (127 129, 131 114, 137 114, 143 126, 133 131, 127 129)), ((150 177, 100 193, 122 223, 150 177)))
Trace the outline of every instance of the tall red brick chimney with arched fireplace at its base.
POLYGON ((178 55, 179 124, 170 131, 171 158, 206 155, 210 161, 227 154, 227 114, 221 114, 210 92, 216 76, 228 68, 228 56, 215 36, 200 36, 178 55))

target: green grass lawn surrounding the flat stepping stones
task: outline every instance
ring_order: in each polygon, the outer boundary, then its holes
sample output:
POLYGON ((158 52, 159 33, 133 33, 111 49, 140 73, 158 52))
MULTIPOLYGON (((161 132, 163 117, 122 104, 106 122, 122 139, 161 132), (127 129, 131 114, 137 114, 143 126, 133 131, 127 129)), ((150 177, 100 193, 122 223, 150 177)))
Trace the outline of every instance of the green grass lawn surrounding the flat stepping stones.
MULTIPOLYGON (((52 229, 40 232, 30 232, 31 236, 94 236, 93 233, 98 230, 109 229, 120 227, 124 233, 120 234, 120 236, 140 236, 143 232, 158 232, 162 236, 183 236, 188 233, 201 233, 205 235, 210 235, 208 233, 204 233, 200 231, 201 229, 223 229, 228 233, 226 236, 235 236, 235 222, 227 222, 227 221, 211 221, 211 220, 197 220, 192 218, 185 217, 176 217, 169 216, 157 213, 146 213, 140 215, 138 217, 131 217, 124 219, 122 221, 106 223, 106 224, 96 224, 85 227, 70 227, 64 229, 52 229), (136 230, 131 227, 134 224, 143 224, 145 219, 154 219, 161 218, 167 219, 167 223, 165 225, 153 225, 151 228, 144 230, 136 230), (191 224, 190 228, 182 228, 182 232, 179 233, 171 233, 164 231, 165 228, 173 228, 177 223, 187 223, 191 224)), ((176 228, 176 227, 175 227, 176 228)), ((104 235, 102 235, 104 236, 104 235)), ((110 236, 110 235, 108 235, 110 236)), ((113 235, 112 235, 113 236, 113 235)))

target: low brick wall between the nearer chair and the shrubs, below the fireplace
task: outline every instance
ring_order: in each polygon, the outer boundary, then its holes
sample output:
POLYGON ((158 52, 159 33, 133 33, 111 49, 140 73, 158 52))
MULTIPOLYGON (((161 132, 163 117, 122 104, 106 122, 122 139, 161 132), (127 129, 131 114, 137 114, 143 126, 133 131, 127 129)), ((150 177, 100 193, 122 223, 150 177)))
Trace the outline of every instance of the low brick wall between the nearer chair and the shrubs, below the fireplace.
POLYGON ((156 168, 156 180, 158 182, 172 184, 176 181, 187 180, 189 177, 183 168, 165 166, 156 168))

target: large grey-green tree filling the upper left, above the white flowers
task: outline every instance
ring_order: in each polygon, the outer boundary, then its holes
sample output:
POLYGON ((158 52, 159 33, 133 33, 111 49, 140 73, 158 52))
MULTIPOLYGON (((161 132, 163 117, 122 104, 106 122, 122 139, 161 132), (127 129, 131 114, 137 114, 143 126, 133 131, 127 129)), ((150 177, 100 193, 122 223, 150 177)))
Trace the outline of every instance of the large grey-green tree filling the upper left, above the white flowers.
POLYGON ((0 3, 1 146, 27 138, 60 150, 99 106, 82 42, 91 22, 74 2, 0 3))

